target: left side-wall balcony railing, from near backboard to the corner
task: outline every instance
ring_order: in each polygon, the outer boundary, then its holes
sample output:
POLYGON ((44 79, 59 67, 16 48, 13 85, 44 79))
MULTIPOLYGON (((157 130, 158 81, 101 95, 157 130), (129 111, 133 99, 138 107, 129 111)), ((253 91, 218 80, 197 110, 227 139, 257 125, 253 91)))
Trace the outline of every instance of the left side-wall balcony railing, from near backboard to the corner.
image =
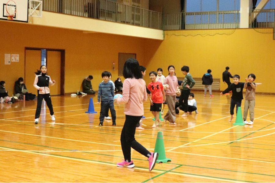
MULTIPOLYGON (((42 0, 43 11, 162 29, 162 13, 111 0, 42 0)), ((34 2, 35 3, 35 2, 34 2)), ((35 5, 35 4, 34 4, 35 5)))

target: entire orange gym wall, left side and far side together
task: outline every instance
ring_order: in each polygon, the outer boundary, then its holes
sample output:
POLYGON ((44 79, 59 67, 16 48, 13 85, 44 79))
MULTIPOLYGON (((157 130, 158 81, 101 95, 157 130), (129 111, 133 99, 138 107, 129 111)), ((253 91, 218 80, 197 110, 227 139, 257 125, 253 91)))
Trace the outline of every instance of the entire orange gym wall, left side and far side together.
MULTIPOLYGON (((163 74, 167 75, 167 66, 174 65, 177 76, 184 77, 180 69, 188 65, 193 77, 202 77, 207 69, 211 69, 214 78, 222 78, 222 72, 229 66, 230 73, 239 74, 241 81, 254 73, 256 82, 262 83, 257 92, 275 93, 272 84, 275 78, 275 41, 273 34, 269 34, 272 29, 165 31, 164 41, 159 41, 85 34, 78 30, 7 21, 0 21, 0 26, 5 33, 0 37, 0 80, 6 81, 7 90, 12 91, 10 94, 13 93, 14 81, 24 77, 25 47, 65 49, 65 93, 79 90, 82 80, 89 74, 94 76, 92 85, 97 90, 104 70, 111 71, 115 81, 119 52, 137 53, 140 64, 147 68, 146 83, 149 82, 149 72, 158 67, 163 68, 163 74), (20 62, 4 65, 5 53, 19 54, 20 62), (115 62, 115 71, 112 71, 112 62, 115 62)), ((221 90, 225 88, 226 84, 221 81, 221 90)))

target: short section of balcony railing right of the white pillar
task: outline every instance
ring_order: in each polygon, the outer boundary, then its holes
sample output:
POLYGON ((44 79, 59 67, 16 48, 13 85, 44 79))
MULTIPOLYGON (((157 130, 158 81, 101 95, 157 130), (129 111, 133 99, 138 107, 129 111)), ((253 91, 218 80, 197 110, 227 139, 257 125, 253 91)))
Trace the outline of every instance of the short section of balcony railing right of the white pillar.
POLYGON ((249 27, 268 28, 274 27, 275 9, 250 10, 249 27))

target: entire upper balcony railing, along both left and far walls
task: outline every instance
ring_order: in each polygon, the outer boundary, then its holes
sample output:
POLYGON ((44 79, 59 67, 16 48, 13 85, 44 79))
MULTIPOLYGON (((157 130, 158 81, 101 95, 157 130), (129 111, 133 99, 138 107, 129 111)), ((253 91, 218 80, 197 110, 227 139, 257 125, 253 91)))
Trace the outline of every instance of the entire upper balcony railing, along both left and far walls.
MULTIPOLYGON (((162 14, 112 0, 42 0, 43 10, 160 30, 240 27, 240 11, 162 14)), ((36 2, 33 2, 34 5, 36 2)), ((275 9, 250 10, 249 27, 274 27, 275 9)))

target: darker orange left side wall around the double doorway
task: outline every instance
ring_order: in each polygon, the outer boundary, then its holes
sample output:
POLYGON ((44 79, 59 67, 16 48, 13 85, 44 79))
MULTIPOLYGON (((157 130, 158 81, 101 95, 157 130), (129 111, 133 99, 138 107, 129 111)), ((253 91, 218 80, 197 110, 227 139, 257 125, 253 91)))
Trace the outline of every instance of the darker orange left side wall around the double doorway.
MULTIPOLYGON (((101 33, 85 34, 78 30, 7 21, 0 21, 0 27, 5 35, 0 37, 0 80, 6 82, 6 89, 10 95, 14 92, 14 82, 18 77, 24 77, 25 47, 65 49, 65 93, 79 90, 82 80, 90 74, 94 76, 92 85, 94 90, 97 90, 104 70, 110 71, 112 80, 115 81, 118 77, 119 52, 136 53, 140 64, 145 63, 144 38, 101 33), (19 54, 20 62, 5 65, 4 54, 19 54), (115 71, 112 70, 112 62, 115 62, 115 71)), ((49 75, 50 73, 48 70, 49 75)), ((27 86, 30 87, 33 86, 27 86)))

